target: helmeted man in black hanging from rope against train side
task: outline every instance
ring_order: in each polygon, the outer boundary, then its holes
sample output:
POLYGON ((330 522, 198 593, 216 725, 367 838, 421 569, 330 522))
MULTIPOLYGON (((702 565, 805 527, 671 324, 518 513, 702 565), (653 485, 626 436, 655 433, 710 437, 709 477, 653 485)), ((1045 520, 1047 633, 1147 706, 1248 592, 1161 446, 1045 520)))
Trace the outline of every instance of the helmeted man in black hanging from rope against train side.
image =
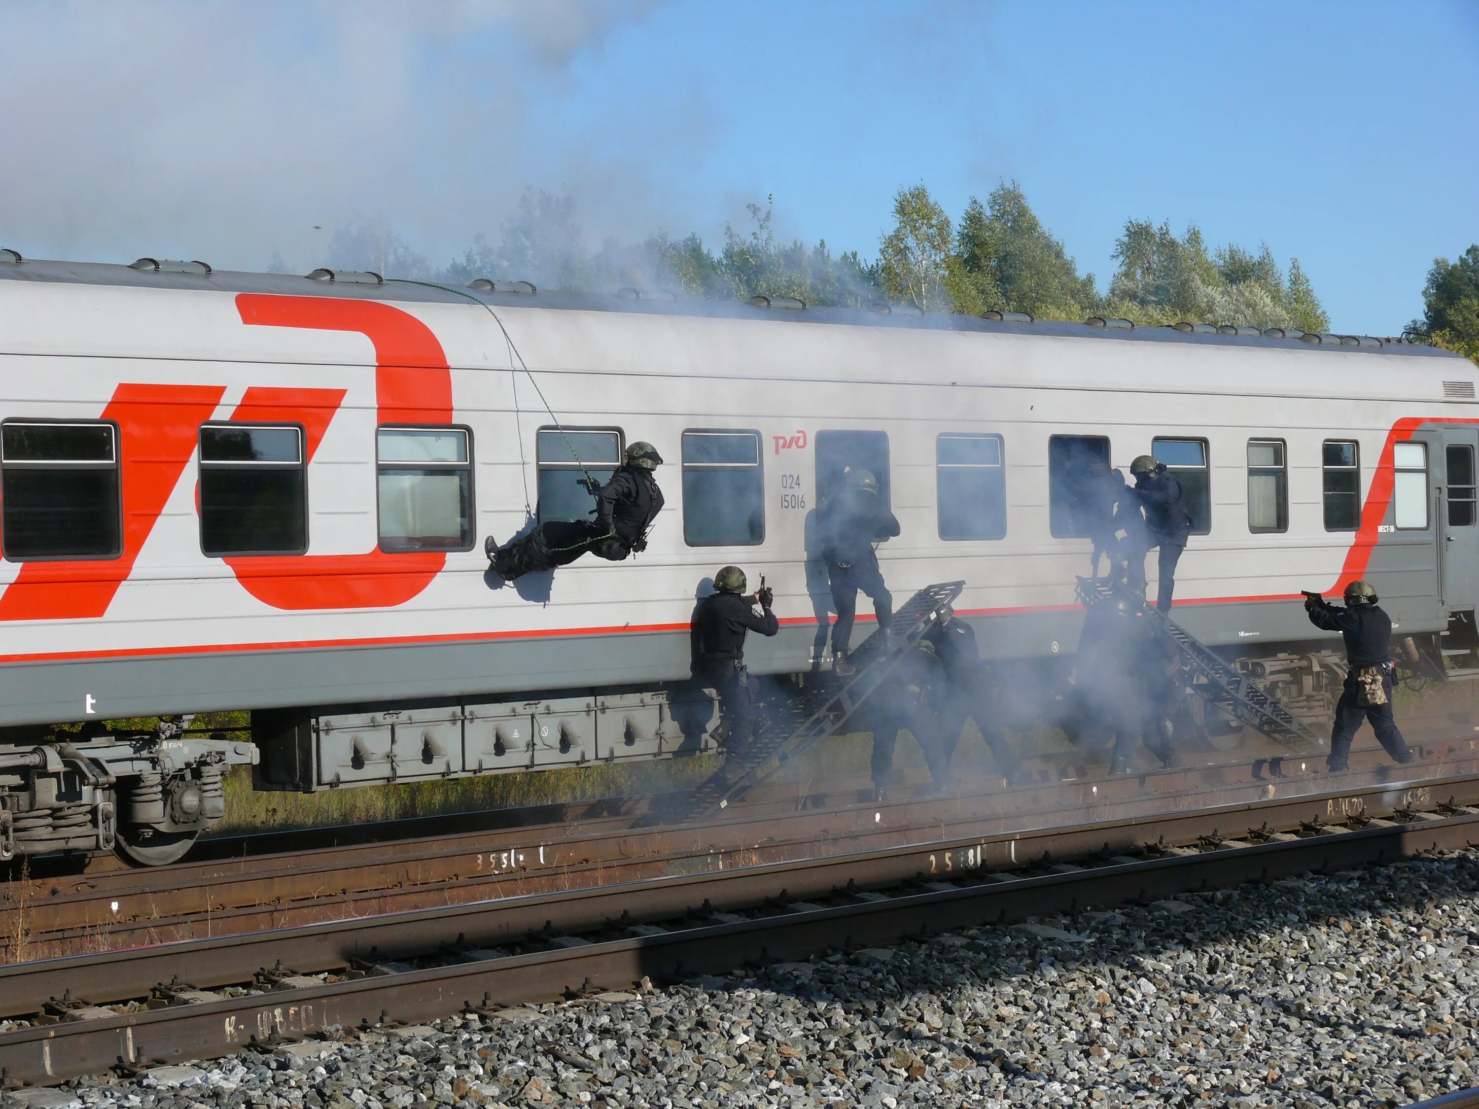
POLYGON ((663 510, 663 491, 654 470, 663 457, 649 442, 627 447, 626 461, 598 485, 595 478, 581 484, 596 498, 595 520, 546 520, 528 535, 503 547, 493 535, 484 543, 484 553, 493 571, 504 581, 525 574, 565 566, 586 552, 596 557, 621 562, 633 552, 646 549, 646 534, 663 510))

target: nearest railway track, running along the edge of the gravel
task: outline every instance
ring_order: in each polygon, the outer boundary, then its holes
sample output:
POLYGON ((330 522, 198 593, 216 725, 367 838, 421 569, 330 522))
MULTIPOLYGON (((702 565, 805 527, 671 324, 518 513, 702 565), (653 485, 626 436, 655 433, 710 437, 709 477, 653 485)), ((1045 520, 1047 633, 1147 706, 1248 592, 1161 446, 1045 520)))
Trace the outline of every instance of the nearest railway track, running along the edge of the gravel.
POLYGON ((0 969, 7 1084, 685 979, 1479 843, 1479 775, 774 862, 0 969), (1130 844, 1118 847, 1117 844, 1130 844))

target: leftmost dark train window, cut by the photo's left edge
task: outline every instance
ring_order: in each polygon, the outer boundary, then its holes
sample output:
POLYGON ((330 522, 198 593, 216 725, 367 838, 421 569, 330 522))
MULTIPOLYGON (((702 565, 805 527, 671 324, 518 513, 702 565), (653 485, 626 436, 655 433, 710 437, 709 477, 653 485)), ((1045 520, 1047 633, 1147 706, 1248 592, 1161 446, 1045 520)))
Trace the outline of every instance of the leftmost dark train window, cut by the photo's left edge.
POLYGON ((120 506, 115 424, 0 424, 0 534, 7 559, 115 559, 123 553, 120 506))

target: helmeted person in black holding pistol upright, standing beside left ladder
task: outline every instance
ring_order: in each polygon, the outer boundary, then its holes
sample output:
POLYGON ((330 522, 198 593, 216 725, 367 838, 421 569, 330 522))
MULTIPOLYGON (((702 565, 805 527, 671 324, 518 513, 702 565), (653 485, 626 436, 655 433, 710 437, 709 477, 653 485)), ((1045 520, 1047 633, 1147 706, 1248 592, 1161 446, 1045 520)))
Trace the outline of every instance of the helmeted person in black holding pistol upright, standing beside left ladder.
POLYGON ((742 756, 754 739, 754 691, 744 665, 745 633, 774 636, 779 631, 771 611, 775 594, 762 584, 753 597, 745 597, 741 596, 744 587, 744 571, 738 566, 714 574, 719 591, 704 597, 691 630, 694 677, 713 685, 719 693, 719 726, 710 735, 737 756, 742 756))

